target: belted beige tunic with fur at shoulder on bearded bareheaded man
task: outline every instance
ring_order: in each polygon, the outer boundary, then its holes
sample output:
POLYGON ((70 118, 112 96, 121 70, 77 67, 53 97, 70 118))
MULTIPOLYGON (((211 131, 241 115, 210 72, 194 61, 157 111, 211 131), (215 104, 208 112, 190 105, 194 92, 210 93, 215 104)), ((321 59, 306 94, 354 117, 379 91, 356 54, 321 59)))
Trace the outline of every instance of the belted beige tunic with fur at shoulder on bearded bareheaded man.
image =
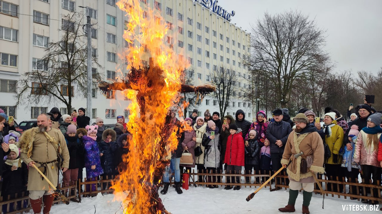
MULTIPOLYGON (((63 158, 62 167, 69 167, 69 151, 66 146, 66 141, 64 135, 58 129, 51 129, 47 132, 50 137, 53 137, 61 147, 61 155, 63 158)), ((32 143, 32 155, 28 158, 28 151, 23 149, 21 146, 21 158, 24 163, 28 164, 31 161, 47 163, 50 161, 57 160, 57 152, 55 147, 51 142, 47 140, 44 134, 39 133, 37 128, 28 129, 23 133, 20 139, 20 144, 30 145, 32 143)), ((40 164, 36 163, 36 166, 39 167, 40 164)), ((45 175, 52 182, 53 185, 57 186, 58 180, 58 169, 57 163, 47 164, 45 175)), ((29 167, 29 176, 28 176, 28 190, 49 190, 49 184, 45 179, 42 179, 42 176, 37 172, 33 167, 29 167)))

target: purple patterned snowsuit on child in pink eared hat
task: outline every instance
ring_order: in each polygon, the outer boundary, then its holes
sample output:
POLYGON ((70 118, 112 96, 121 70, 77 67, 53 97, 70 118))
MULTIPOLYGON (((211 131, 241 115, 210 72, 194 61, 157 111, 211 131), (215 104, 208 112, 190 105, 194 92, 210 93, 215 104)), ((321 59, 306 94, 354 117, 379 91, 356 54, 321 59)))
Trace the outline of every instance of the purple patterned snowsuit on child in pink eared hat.
MULTIPOLYGON (((95 181, 98 176, 104 173, 101 166, 98 144, 88 136, 82 137, 85 147, 85 169, 87 181, 95 181), (95 165, 95 169, 92 166, 95 165)), ((95 184, 91 184, 91 191, 95 191, 95 184)), ((86 185, 86 192, 89 191, 90 185, 86 185)))

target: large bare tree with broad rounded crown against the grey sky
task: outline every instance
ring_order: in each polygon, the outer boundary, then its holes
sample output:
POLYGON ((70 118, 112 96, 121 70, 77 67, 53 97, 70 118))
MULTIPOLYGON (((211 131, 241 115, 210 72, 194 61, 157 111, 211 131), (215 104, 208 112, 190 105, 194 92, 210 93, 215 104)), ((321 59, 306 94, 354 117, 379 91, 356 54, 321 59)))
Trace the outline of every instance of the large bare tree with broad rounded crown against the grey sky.
POLYGON ((301 12, 264 15, 264 19, 252 28, 253 53, 243 57, 243 63, 267 78, 274 86, 274 101, 284 108, 290 102, 295 80, 319 64, 330 61, 323 50, 325 31, 301 12))

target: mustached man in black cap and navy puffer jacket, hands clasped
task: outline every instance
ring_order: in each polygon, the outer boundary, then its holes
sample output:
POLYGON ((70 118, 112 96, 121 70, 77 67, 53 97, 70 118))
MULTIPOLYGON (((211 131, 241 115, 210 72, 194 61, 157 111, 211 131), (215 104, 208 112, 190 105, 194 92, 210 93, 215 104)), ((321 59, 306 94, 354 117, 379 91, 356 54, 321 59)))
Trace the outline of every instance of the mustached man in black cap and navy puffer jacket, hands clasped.
POLYGON ((283 121, 283 112, 281 109, 274 110, 273 114, 275 115, 275 121, 270 123, 267 127, 267 139, 270 142, 272 167, 277 171, 282 167, 280 161, 283 158, 286 140, 288 140, 292 128, 289 123, 283 121))

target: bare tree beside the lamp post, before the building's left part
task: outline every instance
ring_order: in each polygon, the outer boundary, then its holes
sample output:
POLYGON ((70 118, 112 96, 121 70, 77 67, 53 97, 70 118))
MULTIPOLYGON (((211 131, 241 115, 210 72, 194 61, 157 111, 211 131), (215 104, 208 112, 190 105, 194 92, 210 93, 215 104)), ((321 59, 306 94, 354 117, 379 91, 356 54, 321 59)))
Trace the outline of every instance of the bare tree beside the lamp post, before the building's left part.
MULTIPOLYGON (((42 59, 34 59, 32 70, 25 72, 24 77, 18 81, 16 105, 58 100, 63 102, 70 112, 72 99, 75 96, 86 95, 87 47, 86 35, 82 32, 83 18, 82 13, 63 15, 62 28, 58 29, 62 31, 61 40, 47 44, 45 56, 42 59), (74 93, 75 87, 83 93, 74 93)), ((96 53, 92 53, 92 64, 100 67, 96 57, 96 53)), ((92 72, 95 88, 101 77, 96 70, 92 72)))

